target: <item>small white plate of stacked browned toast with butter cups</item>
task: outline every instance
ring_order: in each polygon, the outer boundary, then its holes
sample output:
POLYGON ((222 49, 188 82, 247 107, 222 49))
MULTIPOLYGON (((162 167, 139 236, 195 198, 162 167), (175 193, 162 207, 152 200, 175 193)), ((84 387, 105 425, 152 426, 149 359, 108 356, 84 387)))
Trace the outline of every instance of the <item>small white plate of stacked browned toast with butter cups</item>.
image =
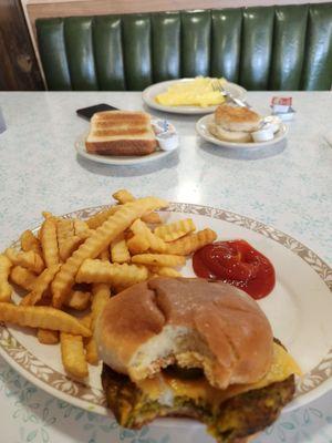
POLYGON ((75 143, 77 154, 108 165, 133 165, 163 158, 178 147, 174 126, 139 111, 103 111, 75 143))

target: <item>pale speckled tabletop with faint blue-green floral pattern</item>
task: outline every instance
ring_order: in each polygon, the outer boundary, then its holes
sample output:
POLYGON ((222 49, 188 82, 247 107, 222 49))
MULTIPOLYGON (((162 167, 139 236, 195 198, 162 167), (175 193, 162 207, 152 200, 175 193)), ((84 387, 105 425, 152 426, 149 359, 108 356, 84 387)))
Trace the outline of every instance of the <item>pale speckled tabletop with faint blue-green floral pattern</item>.
MULTIPOLYGON (((268 112, 271 92, 248 101, 268 112)), ((290 95, 290 93, 287 93, 290 95)), ((41 212, 64 214, 107 204, 121 187, 137 196, 222 207, 288 233, 332 262, 332 94, 294 92, 295 119, 286 144, 255 152, 220 150, 195 134, 197 116, 167 114, 180 148, 141 166, 107 166, 76 156, 74 142, 89 127, 75 110, 97 103, 143 109, 139 93, 0 93, 7 131, 0 134, 0 248, 41 222, 41 212)), ((152 112, 157 116, 165 116, 152 112)), ((199 442, 156 425, 126 431, 44 393, 0 358, 0 441, 199 442)), ((197 440, 198 439, 198 440, 197 440)), ((266 442, 332 442, 332 392, 291 413, 259 435, 266 442)))

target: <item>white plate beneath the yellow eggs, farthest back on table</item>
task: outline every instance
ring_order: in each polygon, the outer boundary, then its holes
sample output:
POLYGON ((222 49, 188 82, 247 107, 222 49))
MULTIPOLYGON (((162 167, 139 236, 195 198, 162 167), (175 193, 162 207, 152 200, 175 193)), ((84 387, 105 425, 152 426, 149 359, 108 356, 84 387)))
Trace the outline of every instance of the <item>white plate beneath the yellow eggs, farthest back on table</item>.
MULTIPOLYGON (((174 114, 209 114, 216 110, 217 106, 164 106, 156 102, 155 97, 163 92, 166 92, 169 86, 175 83, 193 82, 195 79, 179 79, 179 80, 168 80, 167 82, 160 82, 146 87, 142 97, 143 101, 149 106, 158 111, 172 112, 174 114)), ((236 83, 226 82, 226 91, 229 91, 236 99, 245 99, 247 91, 245 87, 239 86, 236 83)))

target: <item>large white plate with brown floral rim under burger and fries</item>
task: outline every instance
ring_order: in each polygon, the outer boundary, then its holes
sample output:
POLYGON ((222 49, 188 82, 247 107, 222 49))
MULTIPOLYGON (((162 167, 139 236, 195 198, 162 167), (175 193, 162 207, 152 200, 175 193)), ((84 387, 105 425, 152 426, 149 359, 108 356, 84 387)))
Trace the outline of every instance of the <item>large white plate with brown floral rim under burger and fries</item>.
MULTIPOLYGON (((68 216, 84 219, 102 208, 81 209, 68 216)), ((198 229, 208 226, 217 231, 218 239, 243 238, 272 261, 276 287, 268 297, 259 300, 259 305, 272 324, 274 337, 288 348, 303 371, 303 377, 297 380, 294 400, 284 411, 303 405, 330 390, 332 269, 292 237, 238 214, 181 203, 172 204, 160 214, 167 222, 189 215, 198 229)), ((190 260, 183 274, 194 275, 190 260)), ((14 297, 19 299, 19 295, 14 297)), ((90 378, 84 384, 76 382, 62 368, 59 346, 41 344, 32 330, 4 324, 0 326, 0 354, 20 374, 58 399, 107 414, 101 387, 101 365, 90 367, 90 378)), ((201 435, 203 432, 199 424, 185 419, 158 420, 154 425, 175 430, 190 425, 194 433, 201 435)), ((205 437, 199 441, 205 442, 205 437)))

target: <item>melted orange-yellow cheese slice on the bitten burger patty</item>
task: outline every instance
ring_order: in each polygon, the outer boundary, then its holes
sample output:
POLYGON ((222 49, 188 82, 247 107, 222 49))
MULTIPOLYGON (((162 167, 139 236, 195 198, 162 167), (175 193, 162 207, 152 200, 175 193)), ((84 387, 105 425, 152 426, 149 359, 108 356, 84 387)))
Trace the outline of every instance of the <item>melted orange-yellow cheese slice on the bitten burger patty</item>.
POLYGON ((137 385, 151 400, 158 400, 162 404, 172 403, 174 396, 188 396, 196 401, 205 400, 217 406, 231 396, 283 381, 291 374, 301 375, 299 365, 281 346, 273 343, 271 368, 269 372, 256 383, 234 384, 221 391, 212 388, 205 378, 180 380, 167 374, 159 374, 158 377, 143 380, 137 383, 137 385))

